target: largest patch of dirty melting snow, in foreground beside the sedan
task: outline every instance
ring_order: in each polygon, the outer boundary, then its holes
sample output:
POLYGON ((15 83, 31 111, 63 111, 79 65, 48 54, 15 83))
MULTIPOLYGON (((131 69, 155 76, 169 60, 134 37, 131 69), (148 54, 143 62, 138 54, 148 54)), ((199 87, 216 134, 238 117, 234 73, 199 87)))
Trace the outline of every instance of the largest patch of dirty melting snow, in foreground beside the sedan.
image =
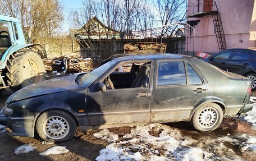
POLYGON ((118 136, 115 136, 116 139, 109 139, 112 135, 115 134, 107 129, 94 134, 109 142, 105 149, 99 151, 96 160, 243 160, 226 146, 236 145, 242 136, 246 137, 242 150, 254 150, 253 147, 256 149, 255 144, 249 144, 255 140, 246 135, 195 140, 182 136, 176 128, 162 124, 136 126, 131 128, 130 134, 120 136, 120 139, 118 136), (149 131, 152 130, 161 132, 159 137, 150 135, 149 131))

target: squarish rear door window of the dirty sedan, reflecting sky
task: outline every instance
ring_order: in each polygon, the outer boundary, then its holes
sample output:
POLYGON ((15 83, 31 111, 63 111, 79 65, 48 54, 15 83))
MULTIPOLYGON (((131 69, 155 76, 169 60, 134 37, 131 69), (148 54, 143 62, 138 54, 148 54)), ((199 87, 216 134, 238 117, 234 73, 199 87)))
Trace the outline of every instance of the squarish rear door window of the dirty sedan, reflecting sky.
POLYGON ((159 62, 157 85, 186 85, 184 61, 159 62))

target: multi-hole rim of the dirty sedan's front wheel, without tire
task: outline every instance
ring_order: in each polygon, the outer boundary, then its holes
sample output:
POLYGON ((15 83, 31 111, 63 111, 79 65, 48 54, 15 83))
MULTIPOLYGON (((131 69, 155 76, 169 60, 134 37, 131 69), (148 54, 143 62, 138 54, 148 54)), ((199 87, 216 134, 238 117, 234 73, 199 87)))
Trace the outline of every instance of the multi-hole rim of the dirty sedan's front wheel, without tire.
POLYGON ((45 119, 43 123, 43 131, 46 136, 51 139, 62 139, 70 130, 67 120, 60 116, 52 116, 45 119))

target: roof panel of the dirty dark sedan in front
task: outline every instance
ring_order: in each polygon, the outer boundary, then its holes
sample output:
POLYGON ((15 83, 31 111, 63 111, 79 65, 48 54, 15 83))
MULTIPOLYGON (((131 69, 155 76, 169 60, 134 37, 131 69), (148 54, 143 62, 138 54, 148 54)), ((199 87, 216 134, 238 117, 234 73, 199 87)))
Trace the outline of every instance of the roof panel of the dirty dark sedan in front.
POLYGON ((129 60, 141 60, 141 59, 188 59, 193 58, 190 56, 180 55, 180 54, 132 54, 123 56, 120 54, 120 57, 116 57, 117 61, 129 61, 129 60))

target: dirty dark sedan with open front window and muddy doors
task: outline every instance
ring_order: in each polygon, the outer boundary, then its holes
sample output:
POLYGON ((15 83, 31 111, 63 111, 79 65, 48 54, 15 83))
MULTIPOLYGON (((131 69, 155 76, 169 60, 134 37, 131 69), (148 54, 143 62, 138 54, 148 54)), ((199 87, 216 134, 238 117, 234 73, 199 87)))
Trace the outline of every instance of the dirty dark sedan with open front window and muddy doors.
POLYGON ((250 79, 176 54, 121 56, 89 73, 30 85, 12 94, 0 124, 12 135, 70 140, 81 131, 190 121, 212 131, 223 117, 253 108, 250 79))

